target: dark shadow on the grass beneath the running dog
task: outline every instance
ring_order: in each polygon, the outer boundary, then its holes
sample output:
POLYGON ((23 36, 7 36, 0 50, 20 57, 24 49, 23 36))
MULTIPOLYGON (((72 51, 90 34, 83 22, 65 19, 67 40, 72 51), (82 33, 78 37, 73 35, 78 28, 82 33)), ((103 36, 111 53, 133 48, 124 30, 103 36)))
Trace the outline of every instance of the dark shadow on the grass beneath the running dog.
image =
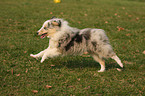
MULTIPOLYGON (((118 67, 115 61, 112 61, 110 59, 105 60, 105 61, 106 61, 106 64, 105 64, 106 70, 114 69, 118 67)), ((96 62, 92 57, 81 57, 81 56, 58 57, 58 58, 51 59, 50 62, 55 65, 54 68, 67 67, 69 69, 75 69, 75 68, 82 69, 82 68, 88 67, 88 68, 96 68, 97 70, 101 68, 100 64, 96 62)))

